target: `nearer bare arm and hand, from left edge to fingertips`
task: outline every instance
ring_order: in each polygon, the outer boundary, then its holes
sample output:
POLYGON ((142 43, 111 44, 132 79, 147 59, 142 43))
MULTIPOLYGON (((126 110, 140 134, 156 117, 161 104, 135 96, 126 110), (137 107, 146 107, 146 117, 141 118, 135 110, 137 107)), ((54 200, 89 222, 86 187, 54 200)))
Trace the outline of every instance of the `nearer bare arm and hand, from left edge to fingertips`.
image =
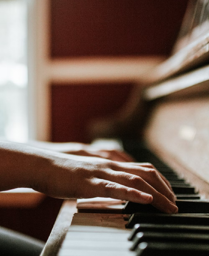
POLYGON ((107 197, 176 213, 169 182, 149 163, 76 156, 0 142, 0 191, 26 187, 55 198, 107 197))

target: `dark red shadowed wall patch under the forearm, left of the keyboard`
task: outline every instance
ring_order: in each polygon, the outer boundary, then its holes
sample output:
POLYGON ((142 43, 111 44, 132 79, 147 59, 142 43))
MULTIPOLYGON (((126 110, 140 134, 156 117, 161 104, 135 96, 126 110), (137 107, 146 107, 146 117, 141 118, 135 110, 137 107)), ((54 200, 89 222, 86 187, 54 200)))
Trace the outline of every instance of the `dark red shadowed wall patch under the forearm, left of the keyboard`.
POLYGON ((47 196, 33 208, 4 205, 0 207, 0 226, 47 241, 62 202, 47 196))

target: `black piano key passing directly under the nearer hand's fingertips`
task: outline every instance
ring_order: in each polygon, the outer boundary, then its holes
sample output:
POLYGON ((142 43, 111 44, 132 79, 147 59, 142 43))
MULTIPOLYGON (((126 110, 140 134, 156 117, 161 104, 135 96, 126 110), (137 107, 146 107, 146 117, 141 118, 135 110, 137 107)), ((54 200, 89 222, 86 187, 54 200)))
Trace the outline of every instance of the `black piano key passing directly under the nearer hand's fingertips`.
MULTIPOLYGON (((179 208, 178 213, 209 213, 208 200, 176 200, 176 205, 179 208)), ((125 204, 123 213, 161 213, 161 211, 152 205, 143 205, 129 201, 125 204)))

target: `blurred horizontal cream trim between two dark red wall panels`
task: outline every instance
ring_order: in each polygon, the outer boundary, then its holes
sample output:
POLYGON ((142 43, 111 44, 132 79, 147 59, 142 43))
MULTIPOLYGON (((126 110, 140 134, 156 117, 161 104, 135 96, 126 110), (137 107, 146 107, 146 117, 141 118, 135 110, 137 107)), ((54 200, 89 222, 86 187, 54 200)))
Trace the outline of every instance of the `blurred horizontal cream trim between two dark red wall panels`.
POLYGON ((48 78, 51 82, 61 83, 140 82, 164 59, 163 56, 53 59, 48 63, 48 78))

